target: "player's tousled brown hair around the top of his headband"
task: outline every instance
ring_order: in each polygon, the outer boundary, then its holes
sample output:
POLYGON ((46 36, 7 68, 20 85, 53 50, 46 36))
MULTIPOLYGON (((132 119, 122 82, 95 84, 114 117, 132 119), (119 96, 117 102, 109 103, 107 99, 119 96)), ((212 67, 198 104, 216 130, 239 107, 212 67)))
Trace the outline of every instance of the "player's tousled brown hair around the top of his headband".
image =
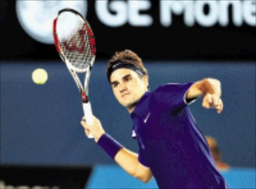
MULTIPOLYGON (((107 67, 106 67, 107 77, 110 76, 108 72, 116 62, 122 62, 123 64, 132 64, 136 67, 139 67, 143 71, 144 75, 148 75, 147 70, 141 61, 141 58, 131 50, 125 49, 120 52, 115 52, 115 54, 107 62, 107 67)), ((109 80, 109 78, 107 79, 109 80)))

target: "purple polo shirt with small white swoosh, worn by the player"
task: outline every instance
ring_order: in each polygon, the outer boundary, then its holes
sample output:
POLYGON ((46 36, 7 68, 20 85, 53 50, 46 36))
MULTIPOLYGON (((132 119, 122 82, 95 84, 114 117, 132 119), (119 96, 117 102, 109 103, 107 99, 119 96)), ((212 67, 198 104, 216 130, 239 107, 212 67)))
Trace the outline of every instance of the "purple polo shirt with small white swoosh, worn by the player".
POLYGON ((224 189, 207 142, 185 102, 193 83, 146 92, 131 113, 138 160, 161 189, 224 189))

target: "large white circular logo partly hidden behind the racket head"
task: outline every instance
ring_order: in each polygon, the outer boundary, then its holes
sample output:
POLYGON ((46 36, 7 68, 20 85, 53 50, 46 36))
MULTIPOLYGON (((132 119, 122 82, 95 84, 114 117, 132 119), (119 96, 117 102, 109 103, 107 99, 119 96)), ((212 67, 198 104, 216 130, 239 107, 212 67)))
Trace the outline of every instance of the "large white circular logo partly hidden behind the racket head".
POLYGON ((36 41, 53 44, 52 22, 62 8, 73 8, 86 17, 86 0, 17 0, 16 14, 25 32, 36 41))

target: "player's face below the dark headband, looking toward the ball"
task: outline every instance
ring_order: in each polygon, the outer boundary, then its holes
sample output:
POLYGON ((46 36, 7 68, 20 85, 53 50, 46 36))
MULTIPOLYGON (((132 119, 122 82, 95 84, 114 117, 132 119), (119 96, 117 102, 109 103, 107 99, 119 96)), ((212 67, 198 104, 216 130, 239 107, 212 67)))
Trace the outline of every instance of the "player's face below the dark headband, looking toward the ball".
POLYGON ((139 77, 130 69, 120 68, 110 76, 113 94, 118 102, 132 112, 138 100, 147 90, 147 76, 139 77))

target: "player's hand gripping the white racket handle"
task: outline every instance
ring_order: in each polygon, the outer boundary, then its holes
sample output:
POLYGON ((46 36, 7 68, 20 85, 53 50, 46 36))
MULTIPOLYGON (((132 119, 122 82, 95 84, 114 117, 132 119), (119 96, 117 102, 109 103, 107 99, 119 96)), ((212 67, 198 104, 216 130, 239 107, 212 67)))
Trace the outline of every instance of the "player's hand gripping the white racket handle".
POLYGON ((88 136, 90 133, 93 135, 95 142, 105 133, 103 130, 100 121, 92 115, 92 125, 86 123, 85 118, 83 117, 80 124, 84 128, 84 134, 88 136))

